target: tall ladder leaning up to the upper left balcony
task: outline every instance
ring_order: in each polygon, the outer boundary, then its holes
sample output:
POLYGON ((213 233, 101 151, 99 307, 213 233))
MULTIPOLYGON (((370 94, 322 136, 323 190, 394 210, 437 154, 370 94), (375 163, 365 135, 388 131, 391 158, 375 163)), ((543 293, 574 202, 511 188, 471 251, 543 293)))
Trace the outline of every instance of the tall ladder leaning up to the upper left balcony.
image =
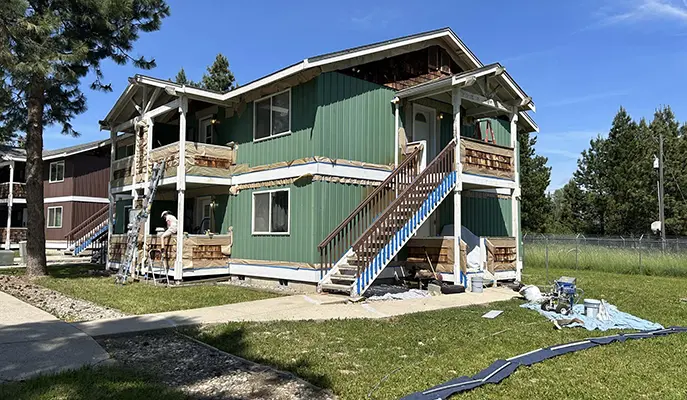
POLYGON ((162 180, 162 174, 164 171, 165 160, 153 165, 150 182, 148 182, 148 195, 143 196, 141 212, 136 215, 136 218, 130 224, 126 233, 126 251, 124 252, 124 258, 119 264, 119 270, 117 271, 117 276, 115 277, 116 284, 125 284, 127 278, 131 274, 131 264, 133 263, 134 254, 138 249, 138 234, 141 231, 141 226, 145 224, 148 216, 150 215, 150 207, 152 206, 153 199, 155 199, 155 192, 157 192, 157 187, 162 180))

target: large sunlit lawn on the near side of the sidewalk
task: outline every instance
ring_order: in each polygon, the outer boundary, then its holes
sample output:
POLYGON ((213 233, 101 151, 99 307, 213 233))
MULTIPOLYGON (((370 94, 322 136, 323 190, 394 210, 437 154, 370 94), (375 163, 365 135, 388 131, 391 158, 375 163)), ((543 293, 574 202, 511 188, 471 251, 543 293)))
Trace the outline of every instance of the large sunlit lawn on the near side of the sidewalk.
MULTIPOLYGON (((687 325, 687 279, 552 269, 572 275, 588 297, 663 325, 687 325)), ((544 284, 530 268, 524 280, 544 284)), ((513 300, 486 307, 442 310, 388 320, 229 323, 191 334, 213 346, 288 370, 341 399, 398 399, 499 358, 566 343, 601 332, 556 331, 539 314, 513 300), (504 310, 494 320, 481 318, 504 310), (381 383, 380 383, 381 382, 381 383), (375 386, 378 385, 376 389, 375 386)), ((682 399, 687 393, 687 334, 613 344, 523 368, 500 385, 457 399, 580 398, 682 399)))

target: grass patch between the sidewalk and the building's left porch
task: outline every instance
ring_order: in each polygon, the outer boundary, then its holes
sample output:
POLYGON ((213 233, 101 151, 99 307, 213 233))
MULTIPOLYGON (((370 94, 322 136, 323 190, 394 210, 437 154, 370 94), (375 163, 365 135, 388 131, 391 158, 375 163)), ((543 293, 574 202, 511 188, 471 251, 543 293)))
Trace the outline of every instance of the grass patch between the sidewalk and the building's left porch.
MULTIPOLYGON (((121 286, 114 284, 114 277, 88 275, 88 270, 95 268, 98 267, 88 264, 49 266, 50 276, 40 278, 36 283, 127 314, 210 307, 278 296, 230 285, 165 287, 135 282, 121 286)), ((0 274, 4 271, 7 270, 0 270, 0 274)))

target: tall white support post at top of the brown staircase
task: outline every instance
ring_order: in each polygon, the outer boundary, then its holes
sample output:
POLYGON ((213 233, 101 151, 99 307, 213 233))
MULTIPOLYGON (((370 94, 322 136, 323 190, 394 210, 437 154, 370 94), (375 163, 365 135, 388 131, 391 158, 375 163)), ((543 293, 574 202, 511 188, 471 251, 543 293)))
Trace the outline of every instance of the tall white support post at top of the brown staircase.
POLYGON ((460 234, 461 234, 461 192, 463 190, 463 165, 460 161, 460 128, 461 128, 461 90, 453 87, 451 90, 453 103, 453 138, 456 141, 456 187, 453 190, 453 281, 456 285, 460 284, 460 234))

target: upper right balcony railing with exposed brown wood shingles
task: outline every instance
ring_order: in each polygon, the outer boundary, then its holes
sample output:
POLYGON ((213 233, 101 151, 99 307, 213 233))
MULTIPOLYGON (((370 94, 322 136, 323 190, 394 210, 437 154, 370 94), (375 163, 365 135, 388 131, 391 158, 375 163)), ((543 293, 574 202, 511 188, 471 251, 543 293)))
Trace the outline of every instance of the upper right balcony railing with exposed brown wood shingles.
POLYGON ((464 173, 515 178, 515 152, 510 147, 461 138, 460 159, 464 173))

